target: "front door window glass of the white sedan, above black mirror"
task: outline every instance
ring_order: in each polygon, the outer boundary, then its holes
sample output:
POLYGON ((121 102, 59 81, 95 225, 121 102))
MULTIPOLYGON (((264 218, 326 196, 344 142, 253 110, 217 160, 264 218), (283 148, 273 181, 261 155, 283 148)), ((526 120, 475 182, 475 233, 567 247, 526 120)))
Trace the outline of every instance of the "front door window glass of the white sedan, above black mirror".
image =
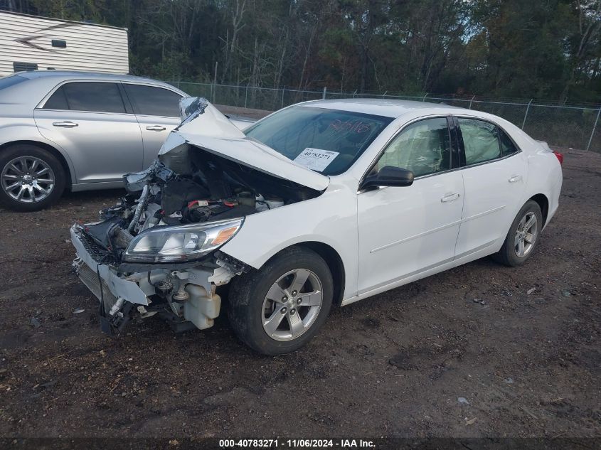
POLYGON ((406 168, 414 176, 448 170, 451 166, 451 144, 446 117, 420 120, 410 124, 385 149, 376 164, 406 168))

